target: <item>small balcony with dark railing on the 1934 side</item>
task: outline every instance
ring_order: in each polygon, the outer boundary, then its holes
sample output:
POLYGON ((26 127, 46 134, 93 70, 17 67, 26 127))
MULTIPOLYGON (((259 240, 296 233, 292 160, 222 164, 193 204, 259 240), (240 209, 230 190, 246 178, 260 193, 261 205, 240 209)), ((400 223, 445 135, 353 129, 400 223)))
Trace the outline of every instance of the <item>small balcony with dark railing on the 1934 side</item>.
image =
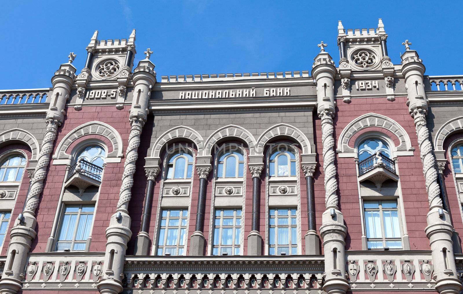
POLYGON ((358 180, 372 181, 381 191, 382 183, 387 180, 399 181, 399 176, 395 172, 394 161, 377 152, 358 163, 358 180))

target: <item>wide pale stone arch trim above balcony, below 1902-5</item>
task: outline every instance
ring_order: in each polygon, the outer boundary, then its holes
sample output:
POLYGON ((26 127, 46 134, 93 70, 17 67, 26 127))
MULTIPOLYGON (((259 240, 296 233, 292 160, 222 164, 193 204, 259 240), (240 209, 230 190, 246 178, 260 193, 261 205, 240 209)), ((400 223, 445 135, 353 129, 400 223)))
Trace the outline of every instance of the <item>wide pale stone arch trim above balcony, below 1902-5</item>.
MULTIPOLYGON (((70 131, 59 143, 58 148, 56 148, 56 152, 53 155, 53 159, 71 159, 72 156, 66 153, 68 147, 78 138, 91 134, 101 135, 108 138, 108 140, 111 141, 111 144, 113 145, 113 151, 107 154, 106 159, 117 157, 119 158, 118 162, 120 162, 120 158, 123 156, 122 138, 119 132, 116 131, 111 125, 100 121, 91 121, 83 125, 79 125, 74 130, 70 131)), ((57 164, 56 161, 53 163, 57 164)))

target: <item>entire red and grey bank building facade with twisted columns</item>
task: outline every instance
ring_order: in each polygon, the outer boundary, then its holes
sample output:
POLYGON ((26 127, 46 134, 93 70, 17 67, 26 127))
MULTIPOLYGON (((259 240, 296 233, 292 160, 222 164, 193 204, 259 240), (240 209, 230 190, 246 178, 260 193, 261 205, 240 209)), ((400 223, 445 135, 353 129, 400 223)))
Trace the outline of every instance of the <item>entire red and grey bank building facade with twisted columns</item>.
POLYGON ((0 293, 459 293, 463 77, 387 37, 156 81, 95 31, 80 72, 0 91, 0 293))

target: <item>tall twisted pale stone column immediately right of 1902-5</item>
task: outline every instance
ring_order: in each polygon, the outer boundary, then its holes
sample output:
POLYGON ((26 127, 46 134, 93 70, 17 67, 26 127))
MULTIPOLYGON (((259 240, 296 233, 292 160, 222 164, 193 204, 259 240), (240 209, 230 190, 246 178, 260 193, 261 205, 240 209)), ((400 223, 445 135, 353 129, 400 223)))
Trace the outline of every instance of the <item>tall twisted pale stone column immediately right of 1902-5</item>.
POLYGON ((119 202, 116 212, 111 217, 109 227, 106 229, 106 255, 103 265, 103 278, 97 285, 100 293, 118 294, 122 291, 122 277, 124 270, 125 250, 132 232, 130 229, 131 219, 128 214, 129 201, 131 199, 131 188, 135 163, 138 158, 138 146, 140 135, 146 117, 148 115, 148 102, 151 88, 156 83, 156 72, 154 64, 148 56, 138 63, 134 70, 132 81, 133 100, 130 109, 130 135, 127 150, 125 151, 124 172, 119 192, 119 202))

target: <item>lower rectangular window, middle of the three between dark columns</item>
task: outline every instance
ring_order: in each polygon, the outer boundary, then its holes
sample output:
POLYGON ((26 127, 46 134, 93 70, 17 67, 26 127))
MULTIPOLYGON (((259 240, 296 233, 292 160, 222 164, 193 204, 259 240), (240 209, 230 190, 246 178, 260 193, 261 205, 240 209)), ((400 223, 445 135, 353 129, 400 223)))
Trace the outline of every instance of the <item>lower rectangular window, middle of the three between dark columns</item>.
POLYGON ((216 209, 213 255, 240 255, 241 209, 216 209))

